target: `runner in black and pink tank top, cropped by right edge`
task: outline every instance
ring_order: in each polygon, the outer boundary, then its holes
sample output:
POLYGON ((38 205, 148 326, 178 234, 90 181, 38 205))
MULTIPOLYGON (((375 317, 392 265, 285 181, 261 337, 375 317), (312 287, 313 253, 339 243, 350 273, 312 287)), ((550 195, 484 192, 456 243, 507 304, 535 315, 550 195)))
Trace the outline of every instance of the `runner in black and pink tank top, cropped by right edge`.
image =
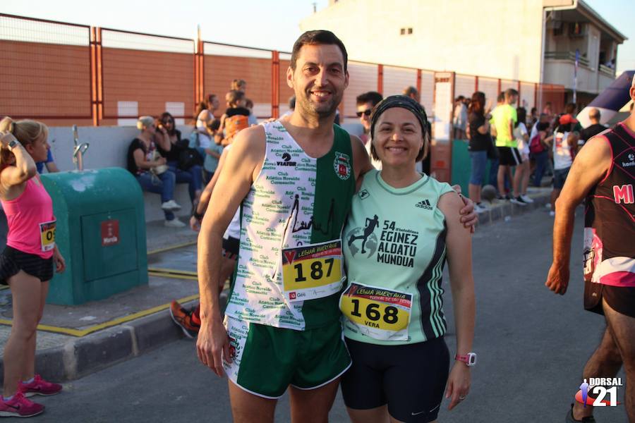
MULTIPOLYGON (((635 101, 635 78, 629 91, 635 101)), ((574 209, 586 197, 584 307, 605 315, 607 328, 581 377, 614 377, 624 364, 625 410, 635 422, 635 114, 588 140, 557 200, 553 263, 547 282, 567 291, 574 209)), ((590 392, 591 393, 591 392, 590 392)), ((567 422, 595 422, 593 398, 572 405, 567 422)))

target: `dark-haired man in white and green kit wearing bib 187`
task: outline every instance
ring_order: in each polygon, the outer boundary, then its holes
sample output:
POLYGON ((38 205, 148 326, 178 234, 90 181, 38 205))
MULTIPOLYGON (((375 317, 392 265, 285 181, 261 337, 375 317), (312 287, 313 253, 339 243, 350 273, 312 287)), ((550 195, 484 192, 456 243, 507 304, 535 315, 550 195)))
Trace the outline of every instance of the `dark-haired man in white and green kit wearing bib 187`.
POLYGON ((238 134, 202 220, 197 353, 228 375, 234 422, 273 422, 289 385, 292 421, 326 421, 351 363, 338 309, 341 228, 371 166, 361 141, 334 125, 346 61, 332 32, 301 35, 287 70, 294 113, 238 134), (240 252, 222 321, 222 234, 237 207, 240 252))

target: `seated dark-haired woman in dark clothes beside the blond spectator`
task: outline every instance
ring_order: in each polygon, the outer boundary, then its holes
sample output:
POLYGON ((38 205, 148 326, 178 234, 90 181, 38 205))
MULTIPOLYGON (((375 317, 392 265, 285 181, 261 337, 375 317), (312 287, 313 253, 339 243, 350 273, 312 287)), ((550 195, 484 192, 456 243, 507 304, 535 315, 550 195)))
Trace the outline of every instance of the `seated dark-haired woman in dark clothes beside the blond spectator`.
MULTIPOLYGON (((188 192, 192 204, 198 202, 202 191, 202 168, 200 164, 179 163, 181 153, 188 148, 188 140, 181 140, 181 131, 176 129, 174 117, 167 111, 161 115, 157 128, 157 137, 164 136, 162 130, 165 129, 170 140, 170 149, 165 150, 161 145, 157 149, 162 157, 167 160, 170 171, 176 175, 176 183, 188 183, 188 192)), ((200 157, 202 161, 202 157, 200 157)))

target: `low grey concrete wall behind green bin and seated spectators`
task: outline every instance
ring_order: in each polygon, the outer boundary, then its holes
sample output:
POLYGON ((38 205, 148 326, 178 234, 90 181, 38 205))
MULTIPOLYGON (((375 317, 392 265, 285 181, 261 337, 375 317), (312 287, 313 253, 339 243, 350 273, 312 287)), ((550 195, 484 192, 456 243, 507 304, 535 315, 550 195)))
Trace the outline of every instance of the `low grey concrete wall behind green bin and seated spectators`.
MULTIPOLYGON (((187 137, 192 128, 179 127, 183 137, 187 137)), ((90 147, 84 154, 84 168, 99 169, 106 167, 126 168, 126 154, 128 145, 139 134, 137 128, 129 126, 80 126, 78 136, 80 142, 90 143, 90 147)), ((73 132, 68 126, 49 127, 49 145, 60 171, 72 171, 75 169, 72 160, 73 132)), ((181 204, 177 215, 183 218, 190 216, 190 197, 187 184, 177 184, 174 200, 181 204)), ((164 219, 160 208, 161 198, 158 194, 144 193, 145 220, 157 221, 164 219)), ((185 219, 181 219, 185 221, 185 219)))

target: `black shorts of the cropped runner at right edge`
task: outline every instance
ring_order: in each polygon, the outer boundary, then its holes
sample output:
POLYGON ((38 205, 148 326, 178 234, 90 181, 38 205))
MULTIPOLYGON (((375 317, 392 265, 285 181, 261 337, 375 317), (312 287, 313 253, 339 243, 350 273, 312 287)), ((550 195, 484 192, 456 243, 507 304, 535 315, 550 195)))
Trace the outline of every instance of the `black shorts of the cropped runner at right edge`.
POLYGON ((635 317, 635 288, 584 282, 584 309, 604 314, 602 299, 619 314, 635 317))

